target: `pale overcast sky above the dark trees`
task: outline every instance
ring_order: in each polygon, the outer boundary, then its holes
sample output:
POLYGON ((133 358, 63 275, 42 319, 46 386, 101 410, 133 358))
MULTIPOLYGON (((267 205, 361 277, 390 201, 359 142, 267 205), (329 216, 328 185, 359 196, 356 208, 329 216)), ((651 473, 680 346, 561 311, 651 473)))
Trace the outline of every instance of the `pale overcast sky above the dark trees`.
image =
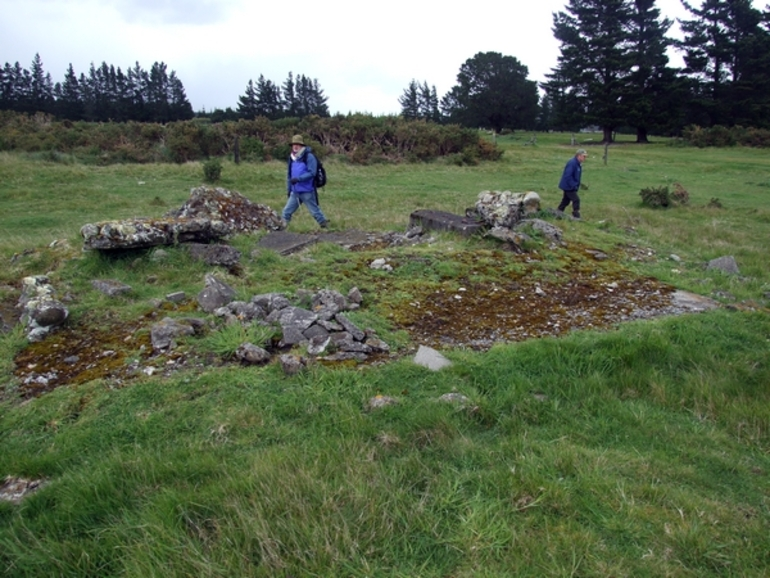
MULTIPOLYGON (((91 63, 126 72, 164 62, 196 112, 236 108, 250 79, 282 85, 291 71, 318 80, 332 114, 390 114, 412 79, 441 98, 479 52, 515 56, 531 80, 545 80, 559 55, 552 14, 566 3, 0 0, 0 64, 29 70, 40 54, 61 82, 70 63, 79 77, 91 63)), ((687 17, 680 0, 657 6, 687 17)))

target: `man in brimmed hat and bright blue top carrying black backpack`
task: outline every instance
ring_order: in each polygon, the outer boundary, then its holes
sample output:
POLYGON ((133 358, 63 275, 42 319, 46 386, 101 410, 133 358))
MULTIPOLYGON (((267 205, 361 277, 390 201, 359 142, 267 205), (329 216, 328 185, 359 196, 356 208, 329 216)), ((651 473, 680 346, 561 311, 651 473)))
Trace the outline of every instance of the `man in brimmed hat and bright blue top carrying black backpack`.
POLYGON ((291 155, 286 174, 286 192, 289 199, 281 215, 286 226, 303 203, 307 205, 310 214, 322 229, 329 226, 329 221, 318 206, 318 191, 313 182, 317 170, 318 159, 315 158, 312 149, 305 145, 301 135, 294 135, 291 139, 291 155))

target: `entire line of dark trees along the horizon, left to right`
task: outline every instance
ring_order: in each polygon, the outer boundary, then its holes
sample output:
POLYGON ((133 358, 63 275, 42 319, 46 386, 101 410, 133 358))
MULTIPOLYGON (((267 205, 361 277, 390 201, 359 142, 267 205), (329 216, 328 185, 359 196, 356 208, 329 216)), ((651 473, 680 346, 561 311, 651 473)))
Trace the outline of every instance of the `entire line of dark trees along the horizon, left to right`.
MULTIPOLYGON (((568 0, 553 15, 556 66, 539 86, 517 58, 478 53, 460 67, 457 84, 439 99, 435 86, 412 80, 398 99, 401 116, 510 130, 576 131, 595 126, 610 142, 618 130, 675 135, 691 125, 770 128, 770 8, 751 0, 683 0, 684 38, 668 36, 673 22, 656 0, 568 0), (683 55, 670 65, 667 51, 683 55)), ((170 122, 193 116, 213 122, 265 117, 328 117, 318 81, 289 72, 278 85, 249 80, 236 109, 193 114, 181 80, 164 63, 149 71, 91 65, 76 76, 69 66, 53 83, 39 55, 30 71, 0 70, 0 110, 47 112, 61 119, 170 122)))

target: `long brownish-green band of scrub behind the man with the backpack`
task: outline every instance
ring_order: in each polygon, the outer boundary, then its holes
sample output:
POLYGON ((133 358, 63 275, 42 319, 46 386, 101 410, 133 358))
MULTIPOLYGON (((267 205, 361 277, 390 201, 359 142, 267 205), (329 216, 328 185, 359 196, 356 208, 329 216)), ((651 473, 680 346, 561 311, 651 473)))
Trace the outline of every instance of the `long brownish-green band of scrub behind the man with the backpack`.
MULTIPOLYGON (((3 111, 0 111, 3 112, 3 111)), ((270 121, 208 119, 170 122, 70 122, 46 115, 0 114, 0 150, 57 150, 84 162, 175 162, 224 157, 238 141, 245 160, 284 159, 291 136, 301 134, 321 157, 335 155, 355 164, 425 162, 460 155, 464 164, 495 161, 497 145, 478 131, 400 116, 350 114, 270 121), (88 160, 81 159, 88 156, 88 160)))

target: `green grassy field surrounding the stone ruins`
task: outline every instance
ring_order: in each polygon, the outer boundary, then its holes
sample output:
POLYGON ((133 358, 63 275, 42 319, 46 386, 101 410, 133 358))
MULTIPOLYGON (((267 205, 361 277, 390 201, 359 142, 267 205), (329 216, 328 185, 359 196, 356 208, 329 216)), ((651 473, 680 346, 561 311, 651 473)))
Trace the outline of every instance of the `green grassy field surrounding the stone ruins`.
MULTIPOLYGON (((325 159, 321 203, 334 229, 371 231, 402 231, 416 209, 463 213, 488 189, 533 190, 555 207, 577 146, 570 135, 529 137, 498 139, 502 161, 478 166, 325 159)), ((26 343, 18 329, 0 334, 0 479, 45 480, 19 504, 0 502, 4 575, 768 575, 768 153, 621 137, 605 163, 605 149, 581 137, 584 220, 555 222, 568 247, 633 255, 623 267, 723 307, 446 350, 453 365, 441 372, 408 355, 291 377, 276 364, 225 364, 28 401, 13 375, 26 343), (674 183, 688 205, 642 206, 642 188, 674 183), (739 275, 706 269, 725 255, 739 275), (437 402, 449 392, 469 402, 437 402), (378 394, 399 403, 368 410, 378 394)), ((165 264, 106 258, 83 253, 78 233, 179 207, 201 184, 199 163, 61 160, 0 154, 0 300, 22 277, 49 273, 73 295, 71 323, 106 323, 136 318, 153 296, 200 290, 208 269, 181 251, 165 264), (89 289, 97 276, 136 294, 100 297, 89 289)), ((284 172, 225 162, 218 185, 280 210, 284 172)), ((305 209, 292 230, 315 230, 305 209)), ((377 299, 406 301, 420 283, 450 282, 461 256, 497 254, 493 241, 451 235, 357 256, 322 244, 284 258, 252 253, 253 237, 232 243, 249 256, 228 278, 241 294, 361 286, 373 302, 359 320, 403 351, 415 344, 377 299), (385 274, 361 263, 407 251, 438 264, 394 275, 373 297, 385 274)), ((546 269, 577 258, 542 253, 546 269)), ((516 257, 502 255, 505 275, 516 257)))

